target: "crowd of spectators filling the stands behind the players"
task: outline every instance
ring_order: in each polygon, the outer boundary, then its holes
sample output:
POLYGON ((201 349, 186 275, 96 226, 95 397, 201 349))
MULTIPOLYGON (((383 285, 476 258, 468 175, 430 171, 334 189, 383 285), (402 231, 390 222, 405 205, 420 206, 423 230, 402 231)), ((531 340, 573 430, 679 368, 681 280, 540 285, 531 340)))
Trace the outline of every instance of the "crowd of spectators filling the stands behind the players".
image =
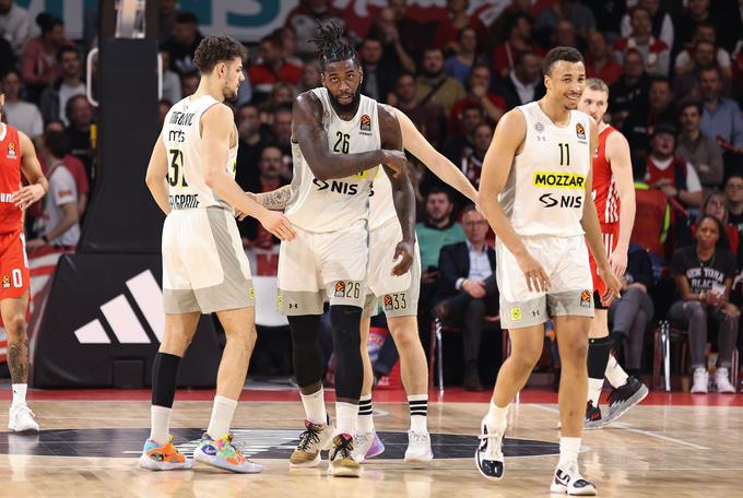
MULTIPOLYGON (((317 21, 346 25, 331 3, 300 0, 283 27, 249 46, 246 81, 231 103, 239 132, 237 181, 246 190, 267 191, 291 181, 291 105, 298 93, 321 84, 309 39, 317 21)), ((642 341, 638 330, 667 317, 674 299, 688 297, 668 297, 668 292, 676 292, 673 276, 682 271, 672 264, 676 251, 698 240, 695 220, 700 214, 712 212, 720 221, 719 244, 733 253, 736 272, 743 266, 738 244, 743 229, 743 1, 514 0, 488 17, 482 9, 472 12, 468 0, 448 0, 445 8, 429 8, 425 22, 409 3, 388 0, 387 7, 370 8, 370 22, 346 25, 364 69, 362 91, 410 116, 475 187, 500 117, 544 94, 541 60, 547 50, 557 45, 580 49, 588 76, 610 85, 605 119, 627 137, 633 151, 633 253, 639 254, 637 271, 650 275, 626 283, 635 289, 627 293, 634 303, 628 308, 640 315, 626 320, 615 310, 612 318, 628 337, 628 368, 647 369, 636 344, 642 341)), ((82 79, 89 45, 69 40, 63 22, 48 14, 35 23, 38 35, 32 37, 27 12, 0 0, 3 118, 34 138, 45 164, 68 168, 66 178, 74 179, 74 203, 83 217, 96 169, 95 109, 84 97, 82 79), (60 130, 63 141, 57 140, 60 130), (45 145, 50 134, 54 153, 45 145)), ((173 0, 160 2, 160 28, 162 120, 172 104, 198 86, 192 57, 203 34, 198 17, 179 11, 173 0)), ((414 157, 411 164, 423 253, 420 317, 426 331, 440 295, 441 248, 467 240, 460 226, 467 200, 414 157)), ((243 223, 240 232, 246 248, 276 242, 255 223, 243 223)), ((487 239, 492 242, 492 234, 487 239)), ((732 283, 728 298, 705 306, 731 311, 740 304, 740 289, 732 283)), ((449 289, 455 290, 462 290, 457 281, 449 289)), ((468 347, 471 363, 474 346, 468 347)), ((695 366, 698 361, 697 351, 695 366)))

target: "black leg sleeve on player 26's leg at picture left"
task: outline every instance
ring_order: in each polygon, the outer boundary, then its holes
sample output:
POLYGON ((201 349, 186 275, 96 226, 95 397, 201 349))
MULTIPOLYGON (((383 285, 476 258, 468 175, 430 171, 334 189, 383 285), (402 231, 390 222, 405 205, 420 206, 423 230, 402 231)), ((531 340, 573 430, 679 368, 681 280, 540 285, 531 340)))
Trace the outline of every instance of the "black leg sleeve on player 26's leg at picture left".
POLYGON ((286 317, 292 331, 294 375, 300 388, 322 380, 325 370, 320 351, 320 315, 286 317))

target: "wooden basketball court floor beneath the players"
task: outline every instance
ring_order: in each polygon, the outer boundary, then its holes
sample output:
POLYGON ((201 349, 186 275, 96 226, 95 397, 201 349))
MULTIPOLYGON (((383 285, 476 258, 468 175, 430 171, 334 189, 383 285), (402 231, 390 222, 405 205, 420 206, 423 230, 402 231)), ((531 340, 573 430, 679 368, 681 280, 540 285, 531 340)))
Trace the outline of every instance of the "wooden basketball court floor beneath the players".
MULTIPOLYGON (((437 456, 431 465, 413 469, 402 461, 408 407, 397 393, 375 402, 387 451, 364 464, 362 478, 328 477, 326 462, 290 472, 286 459, 303 419, 298 394, 246 391, 236 412, 236 440, 263 464, 262 474, 205 466, 153 473, 135 467, 149 434, 149 394, 130 394, 34 392, 32 407, 44 429, 37 436, 7 432, 3 396, 0 496, 534 497, 549 495, 557 462, 554 394, 527 391, 509 414, 506 476, 494 483, 480 476, 472 458, 488 395, 447 391, 440 401, 432 396, 429 405, 437 456)), ((208 424, 212 395, 176 396, 172 425, 184 451, 208 424)), ((583 474, 600 496, 743 497, 743 395, 651 395, 614 428, 585 432, 583 447, 583 474)))

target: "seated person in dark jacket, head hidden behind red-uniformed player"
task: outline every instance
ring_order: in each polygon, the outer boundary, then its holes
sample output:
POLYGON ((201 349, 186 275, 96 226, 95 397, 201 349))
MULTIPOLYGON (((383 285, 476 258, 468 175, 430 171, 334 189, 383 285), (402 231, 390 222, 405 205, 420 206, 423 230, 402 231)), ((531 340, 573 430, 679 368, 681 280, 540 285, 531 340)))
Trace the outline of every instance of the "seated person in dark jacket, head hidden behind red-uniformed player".
POLYGON ((624 342, 624 367, 629 376, 639 379, 642 344, 654 307, 650 298, 653 286, 652 261, 640 246, 629 246, 627 271, 622 282, 622 297, 609 308, 614 344, 624 342))

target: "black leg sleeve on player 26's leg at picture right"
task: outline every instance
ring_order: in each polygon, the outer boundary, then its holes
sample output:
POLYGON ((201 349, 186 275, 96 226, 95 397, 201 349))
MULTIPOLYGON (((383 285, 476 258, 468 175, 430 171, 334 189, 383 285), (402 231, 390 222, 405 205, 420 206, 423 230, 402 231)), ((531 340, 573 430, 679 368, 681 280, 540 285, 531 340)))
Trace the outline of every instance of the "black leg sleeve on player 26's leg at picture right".
POLYGON ((335 352, 335 398, 358 400, 364 382, 359 352, 362 309, 356 306, 331 306, 330 323, 335 352))

